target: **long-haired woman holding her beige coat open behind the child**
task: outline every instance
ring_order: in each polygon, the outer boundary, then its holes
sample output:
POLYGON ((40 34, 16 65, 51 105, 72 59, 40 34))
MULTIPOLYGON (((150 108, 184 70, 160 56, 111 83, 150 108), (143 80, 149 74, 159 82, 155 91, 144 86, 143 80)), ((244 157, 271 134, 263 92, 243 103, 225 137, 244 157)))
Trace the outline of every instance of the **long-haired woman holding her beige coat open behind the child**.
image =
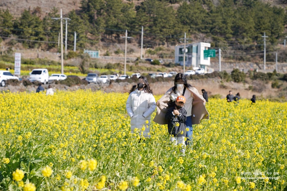
POLYGON ((183 92, 183 96, 186 98, 186 103, 183 108, 187 111, 185 124, 189 129, 186 133, 187 141, 185 144, 188 145, 192 141, 192 125, 199 124, 202 119, 209 119, 209 114, 205 107, 205 99, 198 93, 198 90, 195 87, 187 83, 184 74, 176 74, 174 87, 171 87, 160 100, 157 101, 157 114, 153 121, 161 125, 168 124, 168 121, 165 119, 168 104, 175 101, 183 92))

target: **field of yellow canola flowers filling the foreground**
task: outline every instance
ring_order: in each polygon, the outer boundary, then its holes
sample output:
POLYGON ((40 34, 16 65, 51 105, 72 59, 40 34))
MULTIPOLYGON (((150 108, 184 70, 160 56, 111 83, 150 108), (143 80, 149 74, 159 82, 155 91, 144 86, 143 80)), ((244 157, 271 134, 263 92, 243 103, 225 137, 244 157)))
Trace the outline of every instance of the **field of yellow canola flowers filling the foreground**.
POLYGON ((183 156, 167 125, 130 133, 127 98, 1 93, 0 190, 286 189, 287 103, 210 99, 183 156))

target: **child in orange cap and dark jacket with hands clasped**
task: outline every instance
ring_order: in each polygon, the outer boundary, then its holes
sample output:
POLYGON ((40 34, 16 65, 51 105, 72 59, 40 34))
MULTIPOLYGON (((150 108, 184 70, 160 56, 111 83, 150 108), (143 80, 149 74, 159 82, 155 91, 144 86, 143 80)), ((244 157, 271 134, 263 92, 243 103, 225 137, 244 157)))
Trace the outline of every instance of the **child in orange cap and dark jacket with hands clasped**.
POLYGON ((176 98, 175 106, 168 109, 165 114, 165 119, 168 120, 168 133, 171 136, 171 142, 174 145, 182 144, 180 152, 185 152, 185 133, 186 133, 186 110, 182 107, 185 104, 185 97, 178 96, 176 98))

